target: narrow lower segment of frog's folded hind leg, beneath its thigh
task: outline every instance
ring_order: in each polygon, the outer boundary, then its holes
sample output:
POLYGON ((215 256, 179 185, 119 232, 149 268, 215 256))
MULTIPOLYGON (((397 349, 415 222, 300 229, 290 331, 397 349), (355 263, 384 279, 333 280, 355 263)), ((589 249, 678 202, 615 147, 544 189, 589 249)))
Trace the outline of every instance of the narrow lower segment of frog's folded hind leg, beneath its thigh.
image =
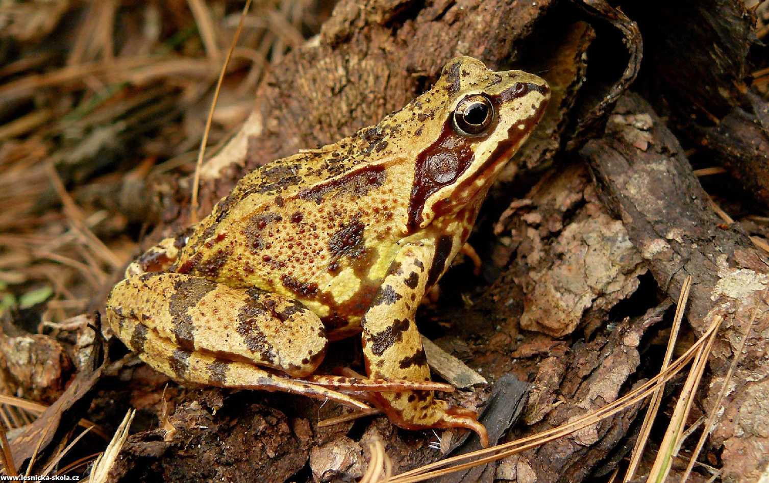
POLYGON ((221 388, 290 392, 335 401, 363 411, 371 410, 362 401, 315 385, 311 381, 281 377, 245 361, 232 361, 208 353, 186 351, 168 338, 161 337, 158 331, 142 325, 135 318, 125 318, 121 331, 130 341, 131 349, 142 361, 178 381, 221 388))

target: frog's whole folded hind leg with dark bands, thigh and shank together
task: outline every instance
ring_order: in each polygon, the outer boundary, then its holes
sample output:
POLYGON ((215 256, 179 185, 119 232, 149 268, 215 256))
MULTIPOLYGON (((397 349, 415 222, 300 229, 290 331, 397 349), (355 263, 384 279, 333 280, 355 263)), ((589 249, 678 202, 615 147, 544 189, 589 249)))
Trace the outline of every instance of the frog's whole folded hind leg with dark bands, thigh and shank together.
POLYGON ((325 329, 298 301, 268 291, 178 273, 145 273, 115 285, 107 321, 142 361, 178 381, 285 391, 369 408, 296 379, 320 365, 328 345, 325 329))

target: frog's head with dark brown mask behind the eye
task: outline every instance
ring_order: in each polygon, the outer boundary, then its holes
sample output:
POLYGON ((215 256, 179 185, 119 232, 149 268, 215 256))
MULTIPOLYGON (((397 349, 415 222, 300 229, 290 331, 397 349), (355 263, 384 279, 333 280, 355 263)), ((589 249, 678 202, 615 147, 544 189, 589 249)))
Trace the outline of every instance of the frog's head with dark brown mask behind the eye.
POLYGON ((416 155, 410 231, 482 200, 541 119, 550 88, 536 75, 493 72, 474 58, 458 57, 425 95, 435 107, 426 123, 434 141, 416 155))

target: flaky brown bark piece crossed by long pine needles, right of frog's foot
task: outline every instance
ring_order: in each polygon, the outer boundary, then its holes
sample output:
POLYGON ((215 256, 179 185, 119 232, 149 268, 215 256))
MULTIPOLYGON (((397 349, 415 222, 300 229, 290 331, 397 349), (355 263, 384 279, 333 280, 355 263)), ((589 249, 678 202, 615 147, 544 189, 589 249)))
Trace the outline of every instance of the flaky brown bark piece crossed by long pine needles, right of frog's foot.
MULTIPOLYGON (((541 362, 524 413, 531 425, 525 435, 573 421, 616 400, 632 385, 643 364, 642 340, 670 307, 664 301, 644 315, 625 319, 613 331, 601 331, 577 342, 565 357, 541 362)), ((591 472, 604 464, 631 428, 641 403, 572 435, 518 455, 516 468, 536 476, 538 483, 592 481, 591 472)))

